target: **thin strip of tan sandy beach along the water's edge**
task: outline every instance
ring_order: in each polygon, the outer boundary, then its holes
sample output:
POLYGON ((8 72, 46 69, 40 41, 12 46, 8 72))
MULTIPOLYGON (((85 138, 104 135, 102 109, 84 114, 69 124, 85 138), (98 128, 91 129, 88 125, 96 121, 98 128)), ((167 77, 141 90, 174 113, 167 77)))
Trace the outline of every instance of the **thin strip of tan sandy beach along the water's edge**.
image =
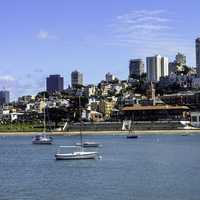
MULTIPOLYGON (((42 132, 0 132, 0 136, 33 136, 42 132)), ((82 135, 128 135, 128 131, 82 131, 82 135)), ((136 130, 137 135, 181 135, 181 134, 200 134, 200 129, 175 129, 175 130, 136 130)), ((76 136, 79 131, 73 132, 47 132, 51 136, 76 136)))

